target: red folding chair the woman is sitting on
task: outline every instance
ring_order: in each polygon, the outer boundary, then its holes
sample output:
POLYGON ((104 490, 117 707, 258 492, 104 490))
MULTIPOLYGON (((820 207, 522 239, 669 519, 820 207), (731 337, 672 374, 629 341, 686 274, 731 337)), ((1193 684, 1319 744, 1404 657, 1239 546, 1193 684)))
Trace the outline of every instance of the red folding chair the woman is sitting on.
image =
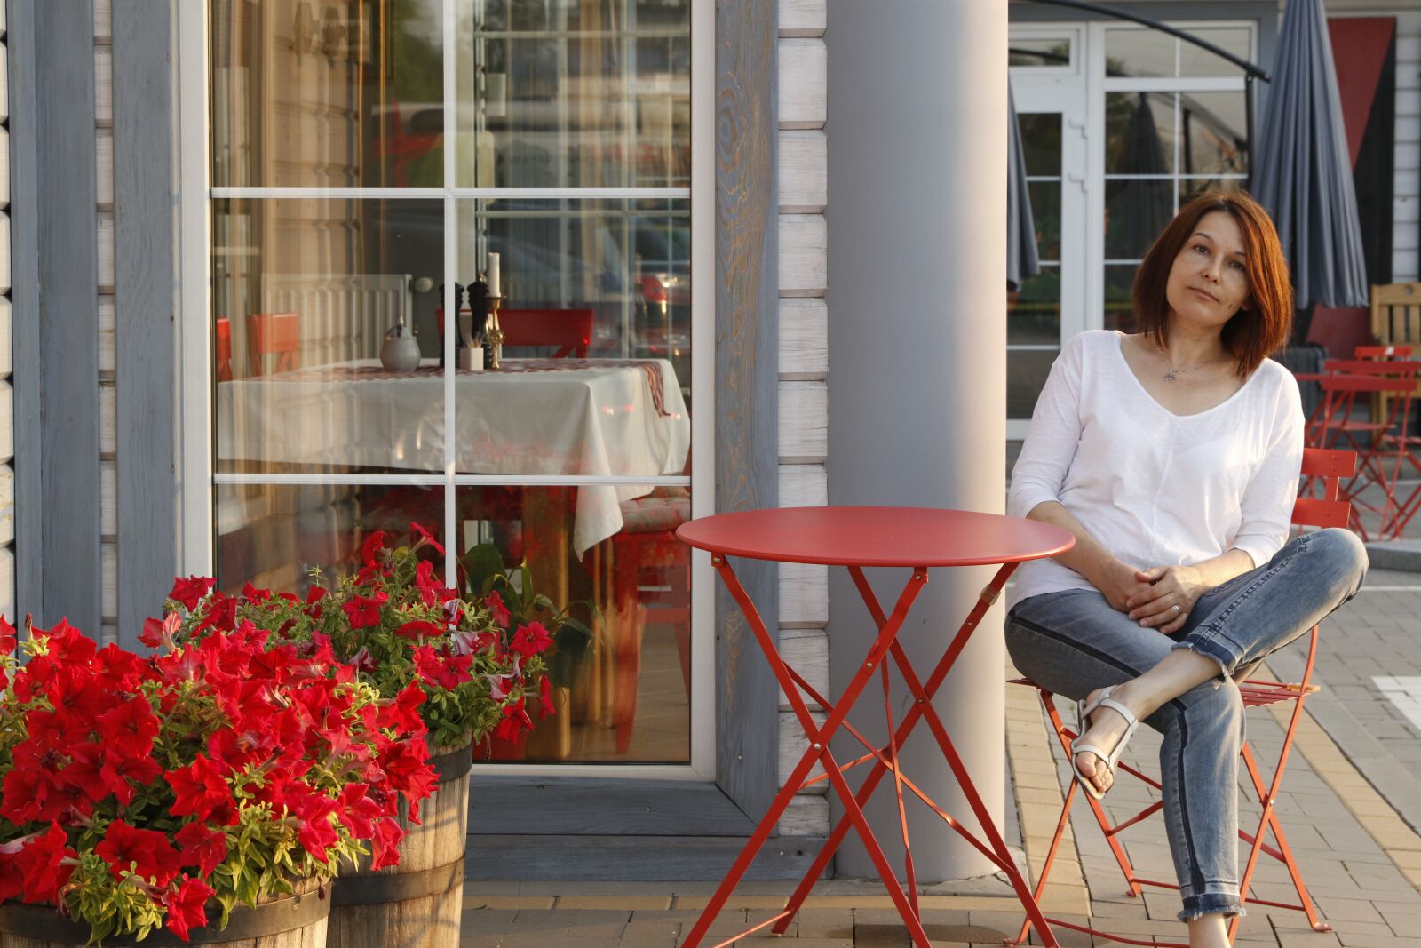
MULTIPOLYGON (((1349 451, 1324 451, 1319 448, 1307 448, 1303 452, 1303 473, 1310 475, 1322 480, 1324 490, 1322 497, 1299 497, 1297 503, 1293 506, 1293 523, 1297 526, 1316 526, 1316 527, 1344 527, 1350 516, 1350 503, 1341 496, 1341 482, 1344 478, 1351 478, 1357 469, 1357 456, 1349 451)), ((1273 779, 1270 783, 1265 783, 1263 775, 1259 770, 1258 760, 1253 756, 1253 749, 1243 742, 1239 753, 1243 758, 1243 766, 1248 770, 1249 779, 1253 783, 1253 790, 1258 793, 1258 799, 1262 807, 1259 816, 1258 829, 1253 833, 1239 830, 1239 839, 1249 844, 1248 861, 1243 867, 1243 878, 1239 884, 1241 901, 1250 903, 1255 905, 1268 905, 1270 908, 1290 908, 1295 911, 1304 912, 1307 915, 1307 922, 1312 925, 1313 931, 1331 931, 1331 925, 1323 921, 1317 915, 1317 908, 1313 905, 1312 897, 1307 894, 1307 885, 1303 883, 1302 870, 1297 868, 1297 861, 1293 858, 1292 849, 1287 846, 1287 836, 1283 833, 1283 827, 1279 824, 1277 813, 1273 809, 1275 800, 1277 799, 1277 792, 1283 786, 1283 772, 1287 769, 1287 758, 1293 749, 1293 738, 1297 733, 1297 722, 1303 716, 1303 699, 1317 691, 1317 685, 1310 684, 1313 677, 1313 662, 1317 658, 1317 627, 1313 625, 1312 632, 1309 632, 1307 642, 1307 664, 1303 667, 1303 679, 1297 684, 1280 684, 1275 681, 1262 681, 1256 678, 1246 678, 1239 682, 1239 692, 1243 695, 1245 708, 1260 708, 1263 705, 1273 705, 1283 701, 1293 702, 1293 715, 1287 722, 1287 733, 1283 738, 1283 750, 1279 753, 1277 765, 1273 767, 1273 779), (1272 830, 1273 840, 1276 846, 1269 846, 1263 841, 1265 831, 1272 830), (1287 874, 1292 878, 1293 888, 1297 891, 1299 904, 1293 905, 1290 903, 1275 903, 1265 898, 1249 898, 1249 885, 1253 881, 1253 870, 1258 867, 1258 860, 1260 854, 1268 854, 1275 860, 1283 863, 1287 867, 1287 874)), ((1066 753, 1067 759, 1070 753, 1070 742, 1076 739, 1077 731, 1066 726, 1061 721, 1060 711, 1056 708, 1054 695, 1042 688, 1036 682, 1027 678, 1012 679, 1013 685, 1025 685, 1027 688, 1034 688, 1042 699, 1042 708, 1046 711, 1046 716, 1052 722, 1052 729, 1056 732, 1056 739, 1060 742, 1061 750, 1066 753)), ((1077 723, 1079 726, 1079 723, 1077 723)), ((1161 789, 1160 782, 1150 775, 1137 770, 1135 767, 1121 762, 1115 767, 1115 773, 1128 773, 1130 776, 1145 782, 1157 792, 1161 789)), ((1042 866, 1042 874, 1036 880, 1036 898, 1040 900, 1046 890, 1046 880, 1050 877, 1052 863, 1056 861, 1056 851, 1060 849, 1061 836, 1066 833, 1067 819, 1070 817, 1071 800, 1076 797, 1076 790, 1080 785, 1076 780, 1070 782, 1070 787, 1066 790, 1066 803, 1061 807, 1060 819, 1056 823, 1056 836, 1052 837, 1050 849, 1046 853, 1046 861, 1042 866)), ((1100 831, 1104 833, 1106 841, 1110 844, 1110 851, 1115 857, 1115 863, 1120 866, 1120 871, 1125 877, 1125 883, 1130 885, 1131 895, 1140 895, 1144 885, 1151 885, 1155 888, 1174 888, 1179 887, 1174 883, 1162 883, 1150 878, 1141 878, 1134 866, 1130 863, 1130 857, 1125 856, 1125 849, 1120 843, 1120 833, 1141 820, 1148 819, 1157 813, 1164 803, 1155 800, 1145 809, 1140 810, 1134 816, 1121 820, 1120 823, 1111 823, 1110 817, 1106 814, 1106 809, 1101 806, 1100 800, 1094 800, 1090 795, 1084 796, 1086 802, 1090 804, 1090 812, 1096 817, 1100 831)), ((1128 938, 1123 935, 1111 935, 1108 932, 1096 931, 1083 925, 1076 925, 1071 922, 1064 922, 1056 918, 1049 918, 1053 925, 1061 925, 1064 928, 1073 928, 1076 931, 1086 931, 1094 935, 1100 935, 1110 941, 1121 941, 1131 945, 1155 945, 1157 948, 1188 948, 1187 942, 1169 942, 1160 941, 1157 938, 1138 939, 1128 938)), ((1241 915, 1236 915, 1229 922, 1229 942, 1232 944, 1235 934, 1238 932, 1241 915)), ((1029 922, 1022 925, 1015 941, 1007 944, 1016 945, 1026 941, 1026 932, 1029 922)))

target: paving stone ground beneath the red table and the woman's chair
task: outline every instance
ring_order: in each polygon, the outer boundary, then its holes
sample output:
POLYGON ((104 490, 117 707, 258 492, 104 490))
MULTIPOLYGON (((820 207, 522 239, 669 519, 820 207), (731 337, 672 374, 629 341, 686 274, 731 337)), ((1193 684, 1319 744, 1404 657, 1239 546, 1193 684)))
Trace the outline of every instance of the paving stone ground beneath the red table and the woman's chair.
MULTIPOLYGON (((1290 647, 1270 658, 1260 674, 1272 671, 1293 681, 1304 657, 1302 645, 1290 647)), ((1253 905, 1238 944, 1421 948, 1421 728, 1404 704, 1388 698, 1397 691, 1388 679, 1408 677, 1421 678, 1421 573, 1373 570, 1366 590, 1323 624, 1314 672, 1320 691, 1306 702, 1307 713, 1276 802, 1303 878, 1333 931, 1312 931, 1297 911, 1253 905)), ((1009 689, 1006 713, 1012 806, 1025 846, 1019 861, 1029 863, 1034 873, 1043 833, 1050 834, 1061 787, 1069 786, 1067 760, 1027 689, 1009 689)), ((1249 711, 1249 740, 1265 776, 1272 773, 1266 762, 1276 760, 1282 748, 1286 713, 1282 706, 1249 711)), ((1125 759, 1155 773, 1158 746, 1158 735, 1142 728, 1125 759)), ((1242 783, 1241 822, 1248 826, 1252 814, 1256 824, 1258 796, 1246 777, 1242 783)), ((1142 897, 1131 897, 1084 797, 1076 796, 1071 833, 1052 874, 1047 898, 1054 900, 1054 908, 1049 912, 1130 938, 1181 939, 1178 895, 1147 888, 1142 897)), ((1148 786, 1121 780, 1107 796, 1107 812, 1118 820, 1133 812, 1131 804, 1140 809, 1154 799, 1157 793, 1148 786)), ((1174 878, 1157 823, 1147 820, 1118 839, 1138 876, 1174 878)), ((460 948, 679 948, 712 888, 709 883, 595 880, 468 883, 460 948)), ((952 894, 922 900, 934 945, 1000 945, 1015 935, 1022 912, 1002 880, 948 888, 952 894)), ((790 883, 743 884, 716 920, 716 937, 705 944, 713 945, 767 918, 790 890, 790 883)), ((1253 895, 1297 901, 1282 864, 1266 856, 1253 895)), ((897 912, 875 883, 828 880, 811 898, 786 935, 797 945, 909 947, 897 912)), ((1070 948, 1107 944, 1069 930, 1057 934, 1070 948)), ((769 937, 760 932, 736 944, 757 944, 769 937)), ((1040 941, 1033 937, 1033 944, 1040 941)))

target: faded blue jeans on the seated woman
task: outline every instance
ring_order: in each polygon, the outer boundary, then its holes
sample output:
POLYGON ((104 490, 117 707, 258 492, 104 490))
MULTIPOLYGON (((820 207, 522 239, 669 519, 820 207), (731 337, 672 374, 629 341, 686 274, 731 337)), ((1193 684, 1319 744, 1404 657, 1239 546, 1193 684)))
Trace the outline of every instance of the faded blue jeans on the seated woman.
POLYGON ((1066 698, 1135 678, 1177 648, 1219 662, 1218 678, 1165 702, 1144 722, 1164 735, 1164 819, 1182 921, 1242 914, 1238 759, 1243 702, 1233 677, 1356 596, 1366 573, 1361 542, 1349 530, 1329 529, 1292 540, 1263 566, 1201 596, 1172 637, 1142 628, 1094 588, 1033 596, 1007 614, 1006 648, 1017 669, 1066 698))

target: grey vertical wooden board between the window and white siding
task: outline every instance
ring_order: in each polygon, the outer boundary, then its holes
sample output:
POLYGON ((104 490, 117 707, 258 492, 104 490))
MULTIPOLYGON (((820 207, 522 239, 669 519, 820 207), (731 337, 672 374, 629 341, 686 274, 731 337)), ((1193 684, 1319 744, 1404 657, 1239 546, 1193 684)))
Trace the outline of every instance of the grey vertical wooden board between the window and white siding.
MULTIPOLYGON (((730 512, 779 503, 776 4, 723 0, 715 38, 716 510, 730 512)), ((779 615, 773 564, 743 563, 739 577, 762 615, 779 615)), ((716 628, 716 783, 757 819, 776 792, 774 677, 719 583, 716 628)))

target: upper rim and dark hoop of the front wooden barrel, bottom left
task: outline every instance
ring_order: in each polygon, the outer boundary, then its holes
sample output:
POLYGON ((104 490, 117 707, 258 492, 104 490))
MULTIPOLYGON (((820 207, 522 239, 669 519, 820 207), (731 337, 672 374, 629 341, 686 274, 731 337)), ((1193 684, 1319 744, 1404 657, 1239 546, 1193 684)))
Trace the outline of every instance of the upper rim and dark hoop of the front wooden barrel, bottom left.
MULTIPOLYGON (((207 918, 216 922, 220 918, 220 908, 216 903, 207 904, 207 918)), ((144 941, 136 941, 134 935, 109 935, 105 945, 141 948, 173 948, 176 945, 212 945, 227 941, 244 941, 280 935, 286 931, 304 928, 331 914, 331 900, 320 890, 288 895, 260 905, 237 905, 227 918, 227 927, 217 930, 215 924, 193 928, 188 941, 182 941, 165 928, 149 932, 144 941)), ((60 915, 53 905, 27 905, 24 903, 6 903, 0 905, 0 931, 20 938, 34 941, 67 941, 75 945, 85 945, 90 941, 90 927, 72 918, 60 915)))

